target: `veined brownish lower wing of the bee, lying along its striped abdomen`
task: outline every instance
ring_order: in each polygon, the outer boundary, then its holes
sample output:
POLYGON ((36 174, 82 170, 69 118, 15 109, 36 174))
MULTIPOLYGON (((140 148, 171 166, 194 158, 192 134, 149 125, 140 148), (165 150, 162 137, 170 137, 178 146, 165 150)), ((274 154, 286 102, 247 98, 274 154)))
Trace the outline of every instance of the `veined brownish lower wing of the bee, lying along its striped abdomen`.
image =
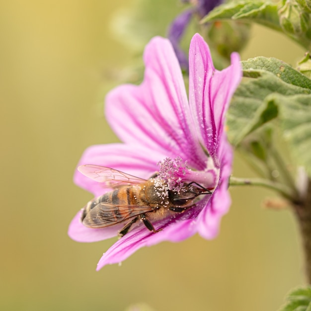
POLYGON ((102 202, 86 214, 82 223, 90 228, 105 228, 152 211, 150 206, 118 205, 102 202))

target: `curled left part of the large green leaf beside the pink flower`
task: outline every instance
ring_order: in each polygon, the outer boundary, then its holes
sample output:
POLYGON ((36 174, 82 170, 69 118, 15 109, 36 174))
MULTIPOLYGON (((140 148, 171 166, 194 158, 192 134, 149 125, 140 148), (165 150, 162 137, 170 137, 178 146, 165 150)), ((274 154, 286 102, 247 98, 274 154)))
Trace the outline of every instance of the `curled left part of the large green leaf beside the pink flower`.
POLYGON ((244 76, 258 78, 251 78, 241 83, 231 101, 227 125, 228 138, 234 146, 237 146, 248 134, 278 116, 278 105, 268 100, 267 96, 273 93, 287 96, 311 94, 311 89, 289 83, 291 80, 296 83, 294 74, 292 75, 294 78, 289 78, 273 72, 275 66, 270 66, 269 71, 263 71, 247 69, 248 65, 247 62, 243 62, 244 76))

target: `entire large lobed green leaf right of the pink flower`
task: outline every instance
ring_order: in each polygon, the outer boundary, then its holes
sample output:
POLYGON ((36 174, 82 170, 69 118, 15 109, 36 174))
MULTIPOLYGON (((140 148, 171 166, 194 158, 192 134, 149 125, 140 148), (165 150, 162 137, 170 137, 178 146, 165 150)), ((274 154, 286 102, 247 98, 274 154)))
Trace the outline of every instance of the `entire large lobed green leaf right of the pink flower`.
MULTIPOLYGON (((259 57, 242 66, 248 79, 237 88, 228 111, 230 142, 238 146, 246 136, 277 119, 293 159, 311 176, 311 80, 276 59, 259 57)), ((264 160, 258 146, 251 148, 264 160)))

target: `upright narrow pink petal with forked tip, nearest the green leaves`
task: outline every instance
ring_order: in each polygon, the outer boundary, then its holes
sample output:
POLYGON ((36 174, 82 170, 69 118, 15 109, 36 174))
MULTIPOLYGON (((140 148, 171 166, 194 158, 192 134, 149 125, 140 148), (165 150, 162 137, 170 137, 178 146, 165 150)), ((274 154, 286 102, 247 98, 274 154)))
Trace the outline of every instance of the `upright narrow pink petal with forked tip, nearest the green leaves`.
POLYGON ((230 67, 217 71, 208 45, 199 34, 193 36, 189 50, 189 103, 202 143, 213 157, 217 157, 225 113, 241 77, 238 54, 233 53, 230 67))

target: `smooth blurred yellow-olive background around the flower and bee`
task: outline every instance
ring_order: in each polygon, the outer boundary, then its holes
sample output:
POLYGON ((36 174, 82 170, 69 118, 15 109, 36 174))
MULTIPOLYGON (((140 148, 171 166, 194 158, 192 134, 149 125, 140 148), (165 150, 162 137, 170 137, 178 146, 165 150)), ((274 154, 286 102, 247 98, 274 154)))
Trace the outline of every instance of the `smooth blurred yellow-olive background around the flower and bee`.
MULTIPOLYGON (((178 2, 176 0, 176 2, 178 2)), ((0 2, 0 310, 273 311, 304 282, 290 211, 261 207, 263 189, 234 188, 217 239, 143 248, 95 272, 116 239, 78 243, 68 225, 92 195, 74 185, 84 149, 116 142, 105 92, 133 52, 113 32, 126 0, 0 2)), ((243 60, 290 64, 304 51, 256 26, 243 60)), ((235 176, 252 173, 235 158, 235 176)))

